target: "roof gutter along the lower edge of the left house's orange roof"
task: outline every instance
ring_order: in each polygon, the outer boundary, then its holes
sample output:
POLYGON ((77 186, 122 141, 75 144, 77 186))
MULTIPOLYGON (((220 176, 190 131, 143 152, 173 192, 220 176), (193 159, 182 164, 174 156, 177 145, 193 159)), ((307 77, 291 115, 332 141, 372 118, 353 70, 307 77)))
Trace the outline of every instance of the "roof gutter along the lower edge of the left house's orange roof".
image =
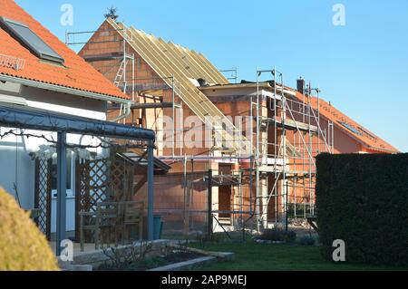
POLYGON ((25 80, 22 78, 13 77, 13 76, 5 75, 5 74, 0 74, 0 81, 1 82, 15 82, 15 83, 18 83, 24 86, 30 86, 30 87, 48 90, 52 92, 73 94, 73 95, 82 96, 85 98, 90 98, 93 100, 111 101, 111 102, 117 102, 117 103, 125 104, 127 106, 131 106, 130 100, 124 100, 119 97, 109 96, 106 94, 100 94, 100 93, 95 93, 95 92, 84 92, 84 91, 76 90, 73 88, 63 87, 63 86, 44 83, 44 82, 35 82, 31 80, 25 80))

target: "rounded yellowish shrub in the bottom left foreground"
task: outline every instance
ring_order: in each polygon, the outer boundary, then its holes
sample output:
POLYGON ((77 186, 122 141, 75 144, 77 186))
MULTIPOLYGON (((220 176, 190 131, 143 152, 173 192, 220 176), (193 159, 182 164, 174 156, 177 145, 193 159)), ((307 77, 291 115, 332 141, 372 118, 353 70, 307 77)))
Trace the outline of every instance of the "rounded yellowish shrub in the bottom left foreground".
POLYGON ((0 271, 59 269, 45 236, 3 189, 0 189, 0 220, 0 271))

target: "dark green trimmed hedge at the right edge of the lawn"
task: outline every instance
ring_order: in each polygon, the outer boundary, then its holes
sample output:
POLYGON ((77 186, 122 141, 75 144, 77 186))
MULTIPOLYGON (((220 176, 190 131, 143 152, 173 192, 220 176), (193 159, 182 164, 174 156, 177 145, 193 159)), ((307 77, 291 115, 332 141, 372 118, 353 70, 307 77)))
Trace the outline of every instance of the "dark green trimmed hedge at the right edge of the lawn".
POLYGON ((316 208, 322 254, 335 239, 346 262, 408 265, 408 154, 317 157, 316 208))

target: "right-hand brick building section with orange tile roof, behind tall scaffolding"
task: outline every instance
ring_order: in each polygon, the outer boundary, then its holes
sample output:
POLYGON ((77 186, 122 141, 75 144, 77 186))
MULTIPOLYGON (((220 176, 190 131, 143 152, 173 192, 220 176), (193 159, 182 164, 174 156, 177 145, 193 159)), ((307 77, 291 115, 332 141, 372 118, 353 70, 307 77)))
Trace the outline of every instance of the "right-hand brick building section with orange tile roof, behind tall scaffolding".
POLYGON ((269 222, 284 218, 286 213, 295 219, 314 214, 317 154, 399 153, 331 103, 312 96, 302 79, 297 81, 297 89, 282 87, 278 82, 275 87, 274 81, 243 81, 209 85, 200 90, 227 115, 250 115, 253 95, 277 95, 262 98, 259 104, 259 171, 264 176, 260 181, 267 181, 263 185, 266 191, 259 192, 267 204, 259 206, 264 207, 263 217, 269 222), (284 94, 285 105, 279 98, 284 94), (283 158, 287 164, 285 171, 274 165, 283 158))

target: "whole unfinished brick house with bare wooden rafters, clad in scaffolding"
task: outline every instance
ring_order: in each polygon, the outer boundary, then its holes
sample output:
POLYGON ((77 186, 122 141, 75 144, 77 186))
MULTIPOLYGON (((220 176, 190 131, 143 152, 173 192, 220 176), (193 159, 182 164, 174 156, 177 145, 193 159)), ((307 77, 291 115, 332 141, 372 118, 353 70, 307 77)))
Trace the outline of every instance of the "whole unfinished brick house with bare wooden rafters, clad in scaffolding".
MULTIPOLYGON (((157 161, 170 170, 155 178, 154 212, 167 231, 306 219, 316 213, 317 154, 398 152, 303 79, 287 86, 277 69, 230 83, 201 53, 112 19, 68 33, 67 43, 82 44, 84 34, 92 35, 80 55, 131 96, 130 106, 109 108, 109 119, 125 115, 125 124, 156 131, 157 161)), ((135 198, 145 198, 146 180, 139 183, 135 198)))

